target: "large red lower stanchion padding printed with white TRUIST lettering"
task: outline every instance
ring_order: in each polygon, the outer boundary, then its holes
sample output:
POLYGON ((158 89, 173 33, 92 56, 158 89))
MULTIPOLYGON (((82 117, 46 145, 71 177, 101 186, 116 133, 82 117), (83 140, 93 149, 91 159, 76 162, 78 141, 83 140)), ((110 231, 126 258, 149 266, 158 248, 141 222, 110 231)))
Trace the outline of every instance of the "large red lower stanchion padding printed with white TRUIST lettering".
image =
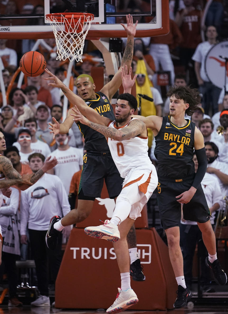
MULTIPOLYGON (((131 280, 139 303, 131 310, 172 309, 177 283, 168 248, 156 230, 136 230, 146 280, 131 280)), ((73 228, 56 279, 57 308, 107 309, 120 287, 120 274, 112 244, 73 228)))

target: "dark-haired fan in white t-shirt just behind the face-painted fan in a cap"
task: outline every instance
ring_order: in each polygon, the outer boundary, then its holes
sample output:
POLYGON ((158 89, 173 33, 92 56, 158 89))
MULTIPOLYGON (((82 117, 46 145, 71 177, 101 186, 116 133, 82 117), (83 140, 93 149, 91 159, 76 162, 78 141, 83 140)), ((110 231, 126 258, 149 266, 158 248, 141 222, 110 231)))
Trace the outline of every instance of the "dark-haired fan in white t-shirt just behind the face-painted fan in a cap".
MULTIPOLYGON (((30 118, 25 120, 24 127, 29 129, 31 133, 31 150, 33 153, 40 153, 45 156, 45 158, 50 154, 50 147, 47 143, 37 140, 36 138, 36 130, 37 130, 37 122, 35 118, 30 118)), ((21 146, 19 142, 13 143, 13 146, 16 146, 18 150, 21 150, 21 146)), ((20 152, 21 154, 21 152, 20 152)), ((25 156, 26 157, 26 156, 25 156)))

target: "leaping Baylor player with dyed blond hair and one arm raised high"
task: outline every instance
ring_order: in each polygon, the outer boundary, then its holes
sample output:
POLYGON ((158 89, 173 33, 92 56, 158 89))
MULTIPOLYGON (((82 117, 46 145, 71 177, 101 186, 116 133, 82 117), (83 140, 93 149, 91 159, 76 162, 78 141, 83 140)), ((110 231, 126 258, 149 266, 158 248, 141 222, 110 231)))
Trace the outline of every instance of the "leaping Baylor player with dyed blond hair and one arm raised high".
MULTIPOLYGON (((113 95, 117 92, 119 86, 122 84, 122 67, 125 65, 128 69, 130 68, 133 57, 134 35, 136 32, 137 22, 134 25, 133 18, 129 14, 127 16, 127 27, 124 24, 121 25, 125 28, 125 31, 128 34, 121 66, 119 71, 112 78, 112 80, 108 84, 106 84, 100 90, 100 92, 95 92, 95 84, 93 82, 93 78, 89 75, 82 74, 79 75, 76 80, 77 92, 80 96, 78 97, 70 89, 68 89, 55 75, 45 69, 45 71, 50 75, 50 77, 46 79, 49 79, 51 81, 54 80, 54 83, 49 83, 49 85, 61 88, 63 93, 66 95, 71 103, 77 104, 77 106, 80 106, 81 104, 82 107, 90 106, 100 115, 108 117, 110 118, 110 120, 114 120, 115 118, 109 100, 112 99, 113 95)), ((54 134, 57 134, 59 132, 67 133, 69 131, 69 128, 74 122, 71 113, 74 112, 72 110, 69 110, 67 113, 67 117, 63 123, 58 124, 57 122, 55 122, 55 124, 50 124, 52 132, 54 134)), ((85 138, 84 149, 87 150, 87 153, 84 155, 83 158, 84 163, 79 185, 78 207, 71 210, 69 214, 63 217, 61 221, 58 222, 57 226, 55 222, 57 220, 60 220, 60 218, 53 218, 50 223, 48 237, 46 239, 48 247, 55 247, 56 245, 56 228, 58 231, 61 231, 64 226, 76 224, 77 222, 83 221, 88 217, 88 215, 92 211, 95 198, 100 197, 104 180, 110 198, 115 199, 122 189, 123 179, 120 177, 119 171, 117 170, 114 161, 111 158, 106 138, 99 132, 94 131, 81 123, 77 124, 85 138)), ((127 239, 129 248, 135 248, 135 250, 137 250, 135 228, 132 228, 130 230, 127 239)), ((121 246, 120 242, 121 241, 119 241, 119 243, 116 243, 115 246, 121 246)), ((137 252, 130 253, 130 257, 131 262, 134 261, 131 264, 131 275, 133 276, 132 278, 136 281, 145 280, 145 276, 141 270, 140 260, 138 258, 137 252)))

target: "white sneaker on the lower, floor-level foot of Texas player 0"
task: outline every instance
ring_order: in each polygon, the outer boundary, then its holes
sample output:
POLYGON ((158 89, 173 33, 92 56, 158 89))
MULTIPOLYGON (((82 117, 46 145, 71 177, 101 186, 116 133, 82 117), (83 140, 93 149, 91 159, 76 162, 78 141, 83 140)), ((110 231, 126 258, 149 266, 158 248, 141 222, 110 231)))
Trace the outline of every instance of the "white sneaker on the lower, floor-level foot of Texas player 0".
POLYGON ((118 291, 119 293, 117 294, 113 305, 111 305, 106 311, 107 313, 119 313, 125 311, 130 306, 139 302, 137 295, 132 289, 123 291, 118 288, 118 291))

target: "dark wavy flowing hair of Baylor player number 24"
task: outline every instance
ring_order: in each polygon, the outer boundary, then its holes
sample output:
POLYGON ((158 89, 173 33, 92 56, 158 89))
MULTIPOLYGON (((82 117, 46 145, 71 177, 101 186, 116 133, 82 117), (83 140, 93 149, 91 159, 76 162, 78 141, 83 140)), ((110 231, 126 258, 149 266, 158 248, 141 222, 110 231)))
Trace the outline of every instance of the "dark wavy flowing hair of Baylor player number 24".
POLYGON ((189 86, 170 87, 167 97, 174 95, 177 99, 183 99, 189 107, 185 110, 187 116, 192 116, 194 111, 198 109, 201 97, 197 89, 192 89, 189 86))

